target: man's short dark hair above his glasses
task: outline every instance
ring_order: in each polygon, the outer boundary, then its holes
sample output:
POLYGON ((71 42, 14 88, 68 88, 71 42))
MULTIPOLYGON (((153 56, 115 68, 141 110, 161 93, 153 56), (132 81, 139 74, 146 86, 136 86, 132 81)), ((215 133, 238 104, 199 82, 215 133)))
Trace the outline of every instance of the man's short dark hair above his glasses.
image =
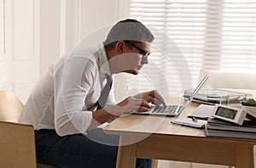
POLYGON ((153 42, 154 36, 148 28, 137 20, 121 20, 108 33, 104 46, 107 49, 113 49, 116 42, 153 42))

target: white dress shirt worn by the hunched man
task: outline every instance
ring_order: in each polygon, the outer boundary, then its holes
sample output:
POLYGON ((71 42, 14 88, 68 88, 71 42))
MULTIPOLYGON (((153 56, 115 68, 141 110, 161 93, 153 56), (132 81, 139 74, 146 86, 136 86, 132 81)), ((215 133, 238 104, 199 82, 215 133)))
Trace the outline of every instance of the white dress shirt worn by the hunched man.
MULTIPOLYGON (((100 97, 108 58, 103 46, 78 48, 61 57, 40 77, 20 116, 35 130, 55 129, 60 136, 86 134, 100 97)), ((106 106, 115 104, 113 89, 106 106)))

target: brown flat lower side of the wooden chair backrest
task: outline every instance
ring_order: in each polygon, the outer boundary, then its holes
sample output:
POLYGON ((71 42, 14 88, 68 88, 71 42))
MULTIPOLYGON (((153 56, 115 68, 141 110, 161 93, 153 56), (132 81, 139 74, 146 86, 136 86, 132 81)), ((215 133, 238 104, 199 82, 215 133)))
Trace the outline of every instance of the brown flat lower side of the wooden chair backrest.
POLYGON ((0 121, 0 167, 36 168, 33 126, 0 121))

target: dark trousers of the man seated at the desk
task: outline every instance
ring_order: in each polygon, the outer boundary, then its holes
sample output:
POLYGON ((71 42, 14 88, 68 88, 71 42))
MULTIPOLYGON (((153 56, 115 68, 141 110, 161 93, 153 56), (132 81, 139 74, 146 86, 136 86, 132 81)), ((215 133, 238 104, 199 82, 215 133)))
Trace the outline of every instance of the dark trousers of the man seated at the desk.
MULTIPOLYGON (((36 131, 38 163, 57 167, 114 168, 119 136, 107 135, 96 128, 83 134, 60 137, 54 130, 36 131)), ((137 159, 137 168, 151 167, 151 160, 137 159)))

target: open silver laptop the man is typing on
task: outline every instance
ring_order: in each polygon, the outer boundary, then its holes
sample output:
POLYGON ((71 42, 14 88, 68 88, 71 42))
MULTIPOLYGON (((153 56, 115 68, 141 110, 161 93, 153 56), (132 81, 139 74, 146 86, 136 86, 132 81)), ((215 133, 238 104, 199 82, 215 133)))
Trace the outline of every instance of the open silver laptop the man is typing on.
POLYGON ((205 76, 198 86, 195 88, 194 92, 192 92, 190 98, 184 104, 173 104, 173 105, 154 105, 150 110, 145 112, 134 111, 132 114, 136 115, 166 115, 166 116, 177 116, 183 112, 183 109, 186 109, 189 106, 190 102, 195 98, 196 93, 201 89, 204 83, 207 81, 209 76, 205 76))

